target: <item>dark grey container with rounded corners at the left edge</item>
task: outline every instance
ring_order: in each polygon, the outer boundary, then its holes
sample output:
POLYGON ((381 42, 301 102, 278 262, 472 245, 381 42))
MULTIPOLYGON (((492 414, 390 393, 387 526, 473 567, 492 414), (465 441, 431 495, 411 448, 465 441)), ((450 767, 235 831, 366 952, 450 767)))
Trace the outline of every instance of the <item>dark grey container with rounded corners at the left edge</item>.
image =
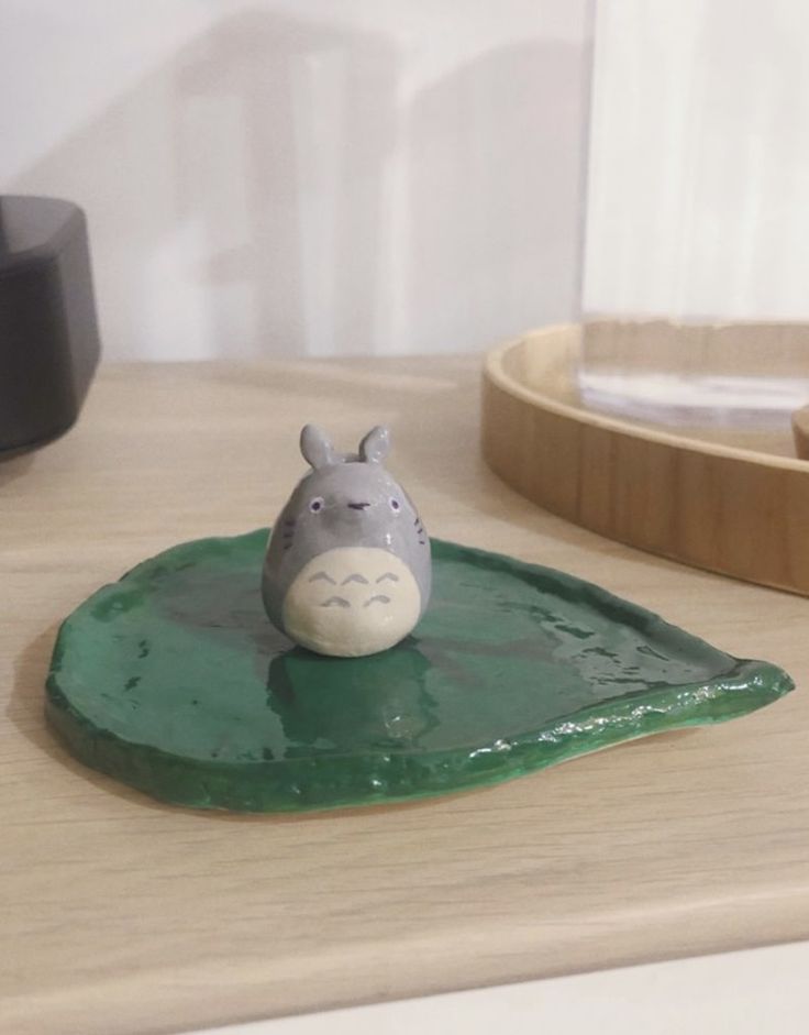
POLYGON ((0 198, 0 460, 67 431, 99 354, 85 213, 0 198))

